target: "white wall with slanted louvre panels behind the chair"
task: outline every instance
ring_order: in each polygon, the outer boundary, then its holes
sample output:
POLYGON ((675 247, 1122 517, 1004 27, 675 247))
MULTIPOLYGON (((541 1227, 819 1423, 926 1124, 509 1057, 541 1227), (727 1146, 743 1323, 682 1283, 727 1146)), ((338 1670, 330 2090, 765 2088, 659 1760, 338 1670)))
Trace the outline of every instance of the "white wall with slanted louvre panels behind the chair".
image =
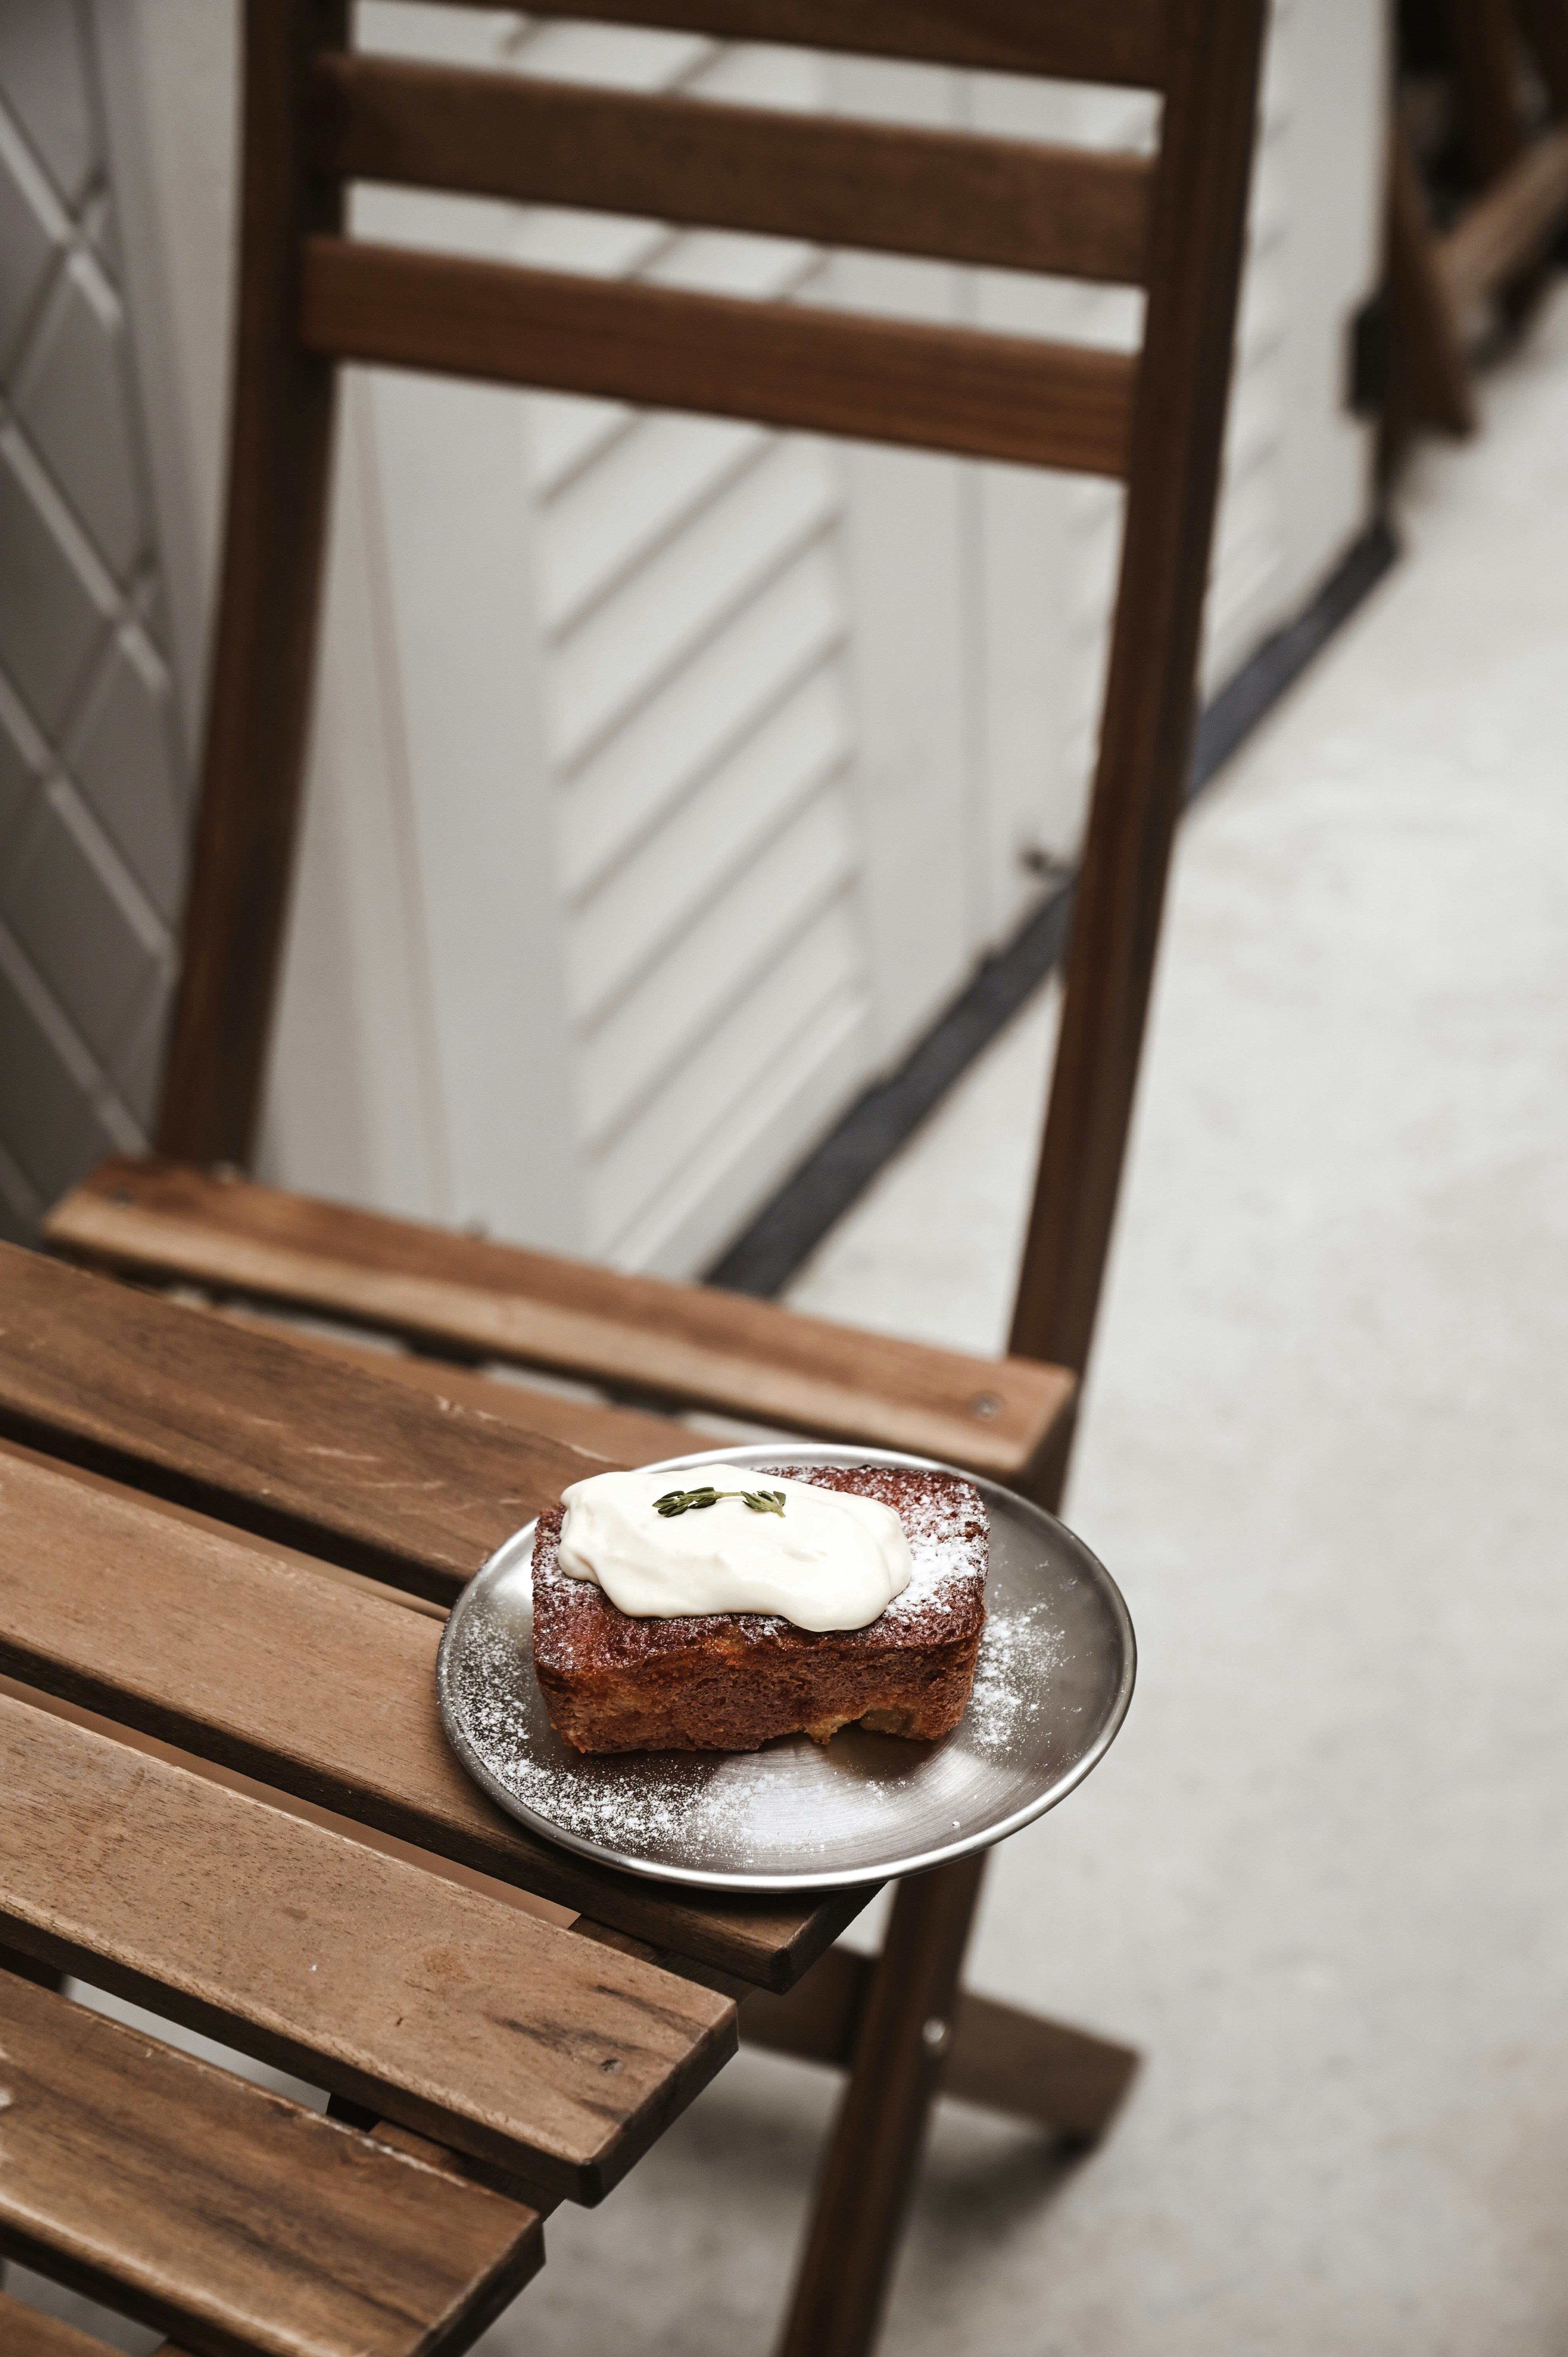
MULTIPOLYGON (((149 226, 177 667, 200 669, 233 12, 99 0, 149 226)), ((370 5, 443 57, 1108 144, 1148 101, 684 35, 370 5)), ((1280 0, 1210 686, 1368 509, 1344 328, 1377 276, 1382 16, 1280 0)), ((365 193, 387 233, 974 323, 1139 299, 776 240, 365 193)), ((328 660, 266 1117, 323 1193, 684 1273, 962 988, 1073 851, 1108 486, 606 403, 351 375, 328 660)))

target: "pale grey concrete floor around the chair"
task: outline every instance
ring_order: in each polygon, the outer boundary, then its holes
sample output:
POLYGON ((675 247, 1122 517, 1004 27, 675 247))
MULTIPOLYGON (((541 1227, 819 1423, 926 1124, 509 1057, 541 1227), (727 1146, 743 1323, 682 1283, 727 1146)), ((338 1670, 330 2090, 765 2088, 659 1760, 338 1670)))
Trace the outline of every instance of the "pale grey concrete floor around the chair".
MULTIPOLYGON (((1068 1499, 1139 1695, 971 1956, 1146 2067, 1073 2166, 943 2107, 901 2357, 1568 2350, 1568 295, 1485 408, 1181 837, 1068 1499)), ((1000 1343, 1052 1014, 799 1306, 1000 1343)), ((762 2357, 830 2102, 740 2055, 486 2357, 762 2357)))

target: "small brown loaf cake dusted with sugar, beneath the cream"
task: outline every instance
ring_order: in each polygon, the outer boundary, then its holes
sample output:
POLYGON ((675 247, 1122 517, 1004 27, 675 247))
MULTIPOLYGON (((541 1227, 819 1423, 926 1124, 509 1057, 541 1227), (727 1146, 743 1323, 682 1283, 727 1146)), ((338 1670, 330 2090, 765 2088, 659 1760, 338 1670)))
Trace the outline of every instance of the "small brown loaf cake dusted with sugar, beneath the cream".
MULTIPOLYGON (((986 1626, 986 1506, 957 1473, 792 1466, 788 1480, 891 1506, 913 1574, 865 1629, 813 1633, 762 1612, 632 1619, 561 1570, 561 1511, 533 1541, 533 1664, 549 1723, 578 1751, 757 1751, 825 1744, 858 1721, 931 1739, 964 1716, 986 1626)), ((766 1473, 752 1475, 766 1480, 766 1473)))

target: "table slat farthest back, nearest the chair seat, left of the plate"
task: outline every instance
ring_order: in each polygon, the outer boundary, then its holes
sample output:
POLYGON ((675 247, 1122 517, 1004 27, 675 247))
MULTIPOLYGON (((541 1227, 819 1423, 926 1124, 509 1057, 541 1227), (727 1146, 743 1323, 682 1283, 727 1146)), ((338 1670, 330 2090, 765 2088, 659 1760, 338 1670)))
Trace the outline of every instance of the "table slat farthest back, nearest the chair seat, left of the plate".
POLYGON ((0 1433, 450 1603, 604 1471, 281 1332, 0 1244, 0 1433))

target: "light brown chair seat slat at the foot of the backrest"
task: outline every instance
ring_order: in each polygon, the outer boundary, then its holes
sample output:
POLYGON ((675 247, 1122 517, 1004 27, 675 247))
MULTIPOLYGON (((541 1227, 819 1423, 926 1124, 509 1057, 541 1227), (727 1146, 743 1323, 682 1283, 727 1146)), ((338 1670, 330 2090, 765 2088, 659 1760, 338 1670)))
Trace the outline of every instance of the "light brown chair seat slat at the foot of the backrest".
POLYGON ((934 1351, 182 1164, 104 1162, 45 1235, 54 1252, 127 1275, 189 1277, 1000 1480, 1028 1473, 1075 1388, 1035 1360, 934 1351))

